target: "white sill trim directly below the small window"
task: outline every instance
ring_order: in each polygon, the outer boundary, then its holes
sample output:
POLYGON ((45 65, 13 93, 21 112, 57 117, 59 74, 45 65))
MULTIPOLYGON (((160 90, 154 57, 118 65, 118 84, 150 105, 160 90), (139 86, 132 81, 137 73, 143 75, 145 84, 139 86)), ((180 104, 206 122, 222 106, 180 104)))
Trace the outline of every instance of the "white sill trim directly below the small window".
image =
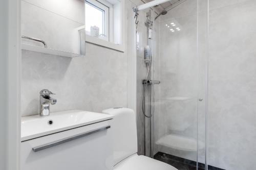
POLYGON ((96 44, 96 45, 99 45, 99 46, 103 46, 103 47, 106 47, 106 48, 110 48, 112 50, 116 50, 116 51, 124 53, 124 45, 123 44, 122 45, 115 44, 113 42, 105 41, 103 39, 93 37, 93 36, 90 36, 90 35, 86 35, 86 42, 96 44))

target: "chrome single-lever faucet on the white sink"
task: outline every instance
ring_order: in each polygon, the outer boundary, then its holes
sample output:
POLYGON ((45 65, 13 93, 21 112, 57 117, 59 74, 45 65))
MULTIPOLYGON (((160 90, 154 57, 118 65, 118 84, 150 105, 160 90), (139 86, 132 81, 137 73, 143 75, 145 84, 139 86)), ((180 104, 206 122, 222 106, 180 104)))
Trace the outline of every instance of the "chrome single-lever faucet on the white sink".
POLYGON ((50 115, 50 105, 57 103, 56 99, 50 97, 51 91, 44 89, 40 92, 40 116, 49 116, 50 115))

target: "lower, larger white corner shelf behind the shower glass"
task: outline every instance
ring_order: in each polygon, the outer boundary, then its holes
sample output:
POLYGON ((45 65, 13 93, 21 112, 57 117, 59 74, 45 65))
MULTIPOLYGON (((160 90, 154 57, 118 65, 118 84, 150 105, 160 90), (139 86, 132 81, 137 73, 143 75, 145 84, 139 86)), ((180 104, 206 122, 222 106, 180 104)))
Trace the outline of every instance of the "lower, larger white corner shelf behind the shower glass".
MULTIPOLYGON (((197 151, 197 139, 175 134, 169 134, 161 137, 156 141, 156 144, 182 151, 197 151)), ((204 149, 204 143, 202 141, 198 141, 198 145, 199 150, 204 149)))

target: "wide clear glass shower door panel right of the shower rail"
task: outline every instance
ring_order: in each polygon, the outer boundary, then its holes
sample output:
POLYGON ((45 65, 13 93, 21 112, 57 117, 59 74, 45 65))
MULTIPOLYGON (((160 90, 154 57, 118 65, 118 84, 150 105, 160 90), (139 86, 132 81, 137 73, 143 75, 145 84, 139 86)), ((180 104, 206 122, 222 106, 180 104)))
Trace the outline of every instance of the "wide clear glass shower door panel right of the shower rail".
POLYGON ((154 158, 178 169, 205 169, 205 2, 184 1, 158 20, 154 158))

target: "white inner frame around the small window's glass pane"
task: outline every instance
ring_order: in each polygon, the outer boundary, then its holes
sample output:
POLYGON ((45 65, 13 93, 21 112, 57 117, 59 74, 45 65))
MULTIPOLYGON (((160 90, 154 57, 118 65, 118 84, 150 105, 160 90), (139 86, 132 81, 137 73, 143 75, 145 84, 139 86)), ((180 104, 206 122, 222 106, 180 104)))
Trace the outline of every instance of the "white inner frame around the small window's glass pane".
MULTIPOLYGON (((103 18, 104 20, 102 21, 102 35, 100 35, 98 38, 106 40, 106 41, 111 41, 112 38, 112 25, 113 25, 113 5, 104 1, 104 0, 85 0, 85 3, 103 11, 103 18)), ((88 35, 90 35, 90 32, 86 31, 88 35)))

